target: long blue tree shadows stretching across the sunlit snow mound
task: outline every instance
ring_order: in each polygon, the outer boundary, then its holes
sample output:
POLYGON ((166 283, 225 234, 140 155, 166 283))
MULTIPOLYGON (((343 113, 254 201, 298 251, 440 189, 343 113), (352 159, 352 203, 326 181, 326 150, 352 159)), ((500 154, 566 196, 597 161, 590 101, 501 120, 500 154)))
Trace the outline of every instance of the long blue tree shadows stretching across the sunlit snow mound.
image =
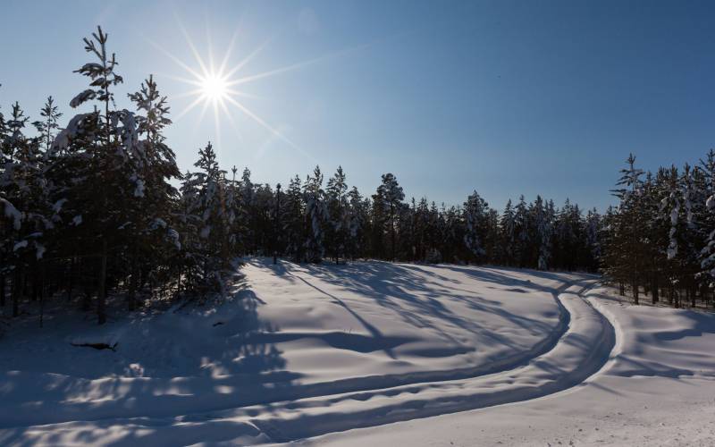
MULTIPOLYGON (((266 267, 265 264, 257 261, 256 266, 266 267)), ((395 264, 382 261, 367 261, 351 263, 345 266, 328 265, 295 265, 282 262, 280 266, 269 266, 280 272, 284 277, 297 279, 306 283, 316 291, 320 291, 332 301, 337 302, 343 308, 356 316, 358 321, 366 328, 368 333, 374 334, 379 339, 383 336, 377 328, 366 323, 365 318, 357 315, 357 311, 350 308, 349 299, 340 299, 332 293, 322 290, 317 285, 309 282, 309 278, 304 278, 301 274, 315 276, 320 281, 330 283, 334 286, 351 291, 362 296, 374 299, 374 302, 389 308, 397 316, 409 325, 421 329, 430 329, 434 333, 439 333, 442 338, 455 344, 461 344, 442 327, 446 325, 456 326, 470 333, 479 333, 492 340, 511 348, 519 348, 508 337, 500 333, 485 331, 479 322, 458 315, 451 304, 458 303, 477 311, 490 313, 499 316, 513 325, 517 325, 532 334, 550 333, 553 329, 548 323, 544 323, 535 318, 522 316, 504 309, 501 302, 494 299, 486 299, 476 291, 470 291, 466 286, 454 277, 447 274, 466 274, 472 278, 485 283, 492 283, 496 288, 510 293, 524 294, 527 297, 528 290, 543 291, 556 296, 565 290, 568 285, 564 284, 559 288, 549 288, 537 283, 532 283, 511 276, 509 269, 504 273, 500 270, 485 267, 460 267, 436 265, 425 266, 395 264), (425 279, 426 278, 426 279, 425 279), (461 287, 460 287, 461 286, 461 287), (435 320, 438 323, 435 323, 435 320)), ((513 270, 513 272, 520 272, 513 270)), ((523 272, 521 272, 523 273, 523 272)), ((544 272, 531 272, 546 279, 564 282, 565 278, 560 274, 544 272)), ((391 358, 392 353, 388 353, 391 358)))

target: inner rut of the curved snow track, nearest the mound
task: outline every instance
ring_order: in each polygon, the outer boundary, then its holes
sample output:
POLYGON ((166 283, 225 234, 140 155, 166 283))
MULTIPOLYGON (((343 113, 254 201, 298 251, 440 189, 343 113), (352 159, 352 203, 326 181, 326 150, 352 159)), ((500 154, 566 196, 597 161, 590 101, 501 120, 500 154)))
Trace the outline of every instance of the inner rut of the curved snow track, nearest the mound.
MULTIPOLYGON (((302 278, 301 278, 302 279, 302 278)), ((305 281, 305 280, 303 280, 305 281)), ((221 410, 244 408, 248 406, 272 405, 273 402, 299 401, 307 398, 320 398, 330 395, 341 395, 350 392, 370 392, 372 390, 398 389, 400 386, 431 384, 462 379, 472 379, 483 375, 492 375, 522 367, 533 358, 543 356, 553 350, 564 334, 568 331, 570 314, 559 300, 559 294, 567 291, 574 284, 585 283, 588 280, 577 280, 564 283, 559 288, 551 290, 551 296, 559 308, 559 323, 554 326, 548 336, 534 344, 529 350, 523 350, 515 355, 501 358, 489 364, 475 367, 456 368, 451 370, 415 371, 404 374, 391 375, 363 375, 350 377, 331 382, 315 384, 290 384, 276 383, 257 384, 246 387, 246 377, 231 375, 221 378, 205 377, 180 377, 166 380, 156 377, 142 378, 101 378, 95 380, 75 379, 63 384, 65 388, 87 390, 76 392, 77 395, 89 393, 96 396, 93 388, 99 386, 119 386, 131 389, 139 387, 142 392, 131 392, 124 399, 122 406, 112 399, 72 399, 63 401, 47 401, 60 406, 61 411, 43 410, 42 408, 3 409, 0 407, 0 428, 13 426, 28 426, 34 424, 57 424, 71 421, 95 421, 105 419, 132 417, 176 417, 177 415, 200 414, 221 410), (240 392, 215 392, 220 387, 233 387, 240 392), (176 392, 166 392, 176 388, 176 392), (156 392, 156 390, 164 390, 156 392), (178 391, 181 390, 181 391, 178 391), (201 392, 193 392, 200 390, 201 392)), ((535 287, 535 284, 534 284, 535 287)), ((540 291, 544 291, 539 287, 540 291)), ((280 336, 280 333, 278 333, 280 336)), ((305 336, 305 335, 304 335, 305 336)), ((37 375, 38 382, 43 374, 37 375)))

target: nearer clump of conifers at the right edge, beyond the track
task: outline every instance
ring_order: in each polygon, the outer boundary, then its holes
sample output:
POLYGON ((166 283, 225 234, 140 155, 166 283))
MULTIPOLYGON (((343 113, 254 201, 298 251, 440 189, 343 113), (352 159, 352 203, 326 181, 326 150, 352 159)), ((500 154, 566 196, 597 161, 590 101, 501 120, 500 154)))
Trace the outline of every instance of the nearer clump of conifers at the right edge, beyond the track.
POLYGON ((635 165, 621 170, 617 207, 603 216, 601 268, 630 291, 652 303, 707 306, 715 283, 715 151, 696 165, 660 167, 656 173, 635 165))

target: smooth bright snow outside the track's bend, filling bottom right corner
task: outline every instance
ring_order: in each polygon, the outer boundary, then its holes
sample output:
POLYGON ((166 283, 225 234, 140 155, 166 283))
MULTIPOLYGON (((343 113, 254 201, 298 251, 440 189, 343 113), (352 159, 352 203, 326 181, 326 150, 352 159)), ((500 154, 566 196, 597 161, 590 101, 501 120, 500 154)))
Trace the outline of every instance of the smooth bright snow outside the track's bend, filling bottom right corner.
POLYGON ((633 306, 596 288, 587 301, 616 332, 610 359, 583 383, 540 399, 335 432, 323 447, 393 445, 715 445, 715 314, 633 306))

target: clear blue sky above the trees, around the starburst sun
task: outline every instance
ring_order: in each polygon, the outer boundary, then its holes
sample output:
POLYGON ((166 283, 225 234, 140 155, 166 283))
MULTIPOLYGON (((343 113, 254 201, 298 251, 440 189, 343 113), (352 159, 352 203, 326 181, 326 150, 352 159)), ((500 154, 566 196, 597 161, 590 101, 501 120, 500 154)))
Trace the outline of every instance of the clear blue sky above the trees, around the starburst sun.
POLYGON ((712 2, 4 0, 0 105, 37 117, 53 95, 77 113, 72 70, 99 24, 118 105, 154 73, 176 118, 197 87, 170 55, 200 72, 186 34, 217 67, 238 31, 226 67, 253 54, 231 79, 261 122, 228 101, 202 119, 199 103, 167 131, 182 170, 211 139, 256 181, 341 164, 364 194, 392 172, 438 203, 476 189, 498 209, 521 193, 603 209, 628 152, 654 169, 715 147, 713 23, 712 2))

